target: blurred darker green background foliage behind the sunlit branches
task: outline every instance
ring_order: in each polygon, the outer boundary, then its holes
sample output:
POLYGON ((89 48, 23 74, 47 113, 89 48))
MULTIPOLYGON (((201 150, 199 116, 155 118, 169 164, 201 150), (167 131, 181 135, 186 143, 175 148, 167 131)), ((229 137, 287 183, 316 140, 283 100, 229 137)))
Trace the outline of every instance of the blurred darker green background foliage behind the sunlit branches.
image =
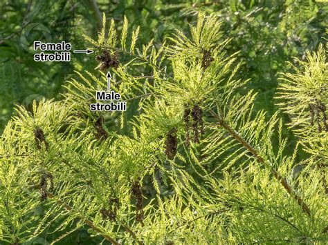
MULTIPOLYGON (((239 52, 242 69, 238 76, 250 79, 248 87, 259 92, 255 110, 264 109, 270 117, 277 110, 273 97, 278 74, 291 69, 286 61, 295 63, 293 57, 302 60, 308 50, 325 43, 327 10, 327 2, 314 0, 2 0, 0 133, 15 113, 15 104, 30 108, 34 99, 60 99, 62 84, 75 77, 74 70, 92 71, 97 66, 94 54, 72 54, 71 62, 35 62, 33 41, 66 41, 72 49, 84 49, 82 34, 97 35, 102 12, 115 19, 118 29, 126 15, 130 28, 140 26, 139 44, 154 38, 158 47, 174 30, 188 30, 199 11, 218 15, 225 38, 232 39, 226 51, 239 52)), ((33 244, 47 244, 56 238, 44 235, 33 244)), ((80 228, 59 244, 99 242, 86 228, 80 228)))

